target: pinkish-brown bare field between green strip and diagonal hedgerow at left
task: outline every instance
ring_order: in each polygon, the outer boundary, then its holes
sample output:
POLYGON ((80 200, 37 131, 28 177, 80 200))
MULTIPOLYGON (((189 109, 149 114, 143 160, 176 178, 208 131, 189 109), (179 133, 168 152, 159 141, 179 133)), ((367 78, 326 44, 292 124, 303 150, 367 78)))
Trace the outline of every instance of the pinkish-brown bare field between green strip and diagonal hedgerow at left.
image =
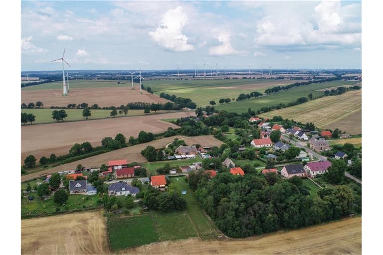
POLYGON ((32 154, 37 159, 55 153, 57 156, 68 153, 75 143, 89 141, 93 146, 101 145, 101 139, 114 137, 117 133, 138 136, 141 130, 153 133, 163 132, 172 123, 161 121, 193 116, 194 112, 174 112, 150 116, 111 118, 103 120, 29 125, 21 127, 21 160, 32 154))

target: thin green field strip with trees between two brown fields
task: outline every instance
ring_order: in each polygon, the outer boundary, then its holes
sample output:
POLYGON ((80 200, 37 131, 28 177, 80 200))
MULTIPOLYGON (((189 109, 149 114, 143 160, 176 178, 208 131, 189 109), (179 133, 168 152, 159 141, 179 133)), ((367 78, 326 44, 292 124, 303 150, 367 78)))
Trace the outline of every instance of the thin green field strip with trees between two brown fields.
MULTIPOLYGON (((36 121, 33 124, 56 123, 56 121, 52 119, 52 112, 54 110, 58 111, 60 109, 45 109, 45 108, 44 109, 21 109, 21 113, 33 114, 34 116, 36 116, 36 121)), ((64 109, 64 110, 68 114, 68 117, 65 118, 63 122, 85 120, 85 118, 82 117, 83 109, 64 109)), ((110 117, 110 112, 111 110, 91 110, 92 116, 88 117, 88 120, 97 120, 97 119, 105 119, 105 118, 113 119, 112 117, 110 117)), ((156 113, 151 112, 148 115, 163 114, 163 113, 168 113, 168 111, 157 111, 156 113)), ((144 110, 129 110, 127 114, 127 116, 141 116, 141 115, 145 115, 144 110)), ((118 114, 117 117, 125 117, 125 115, 118 114)), ((62 123, 62 122, 59 122, 59 123, 62 123)))

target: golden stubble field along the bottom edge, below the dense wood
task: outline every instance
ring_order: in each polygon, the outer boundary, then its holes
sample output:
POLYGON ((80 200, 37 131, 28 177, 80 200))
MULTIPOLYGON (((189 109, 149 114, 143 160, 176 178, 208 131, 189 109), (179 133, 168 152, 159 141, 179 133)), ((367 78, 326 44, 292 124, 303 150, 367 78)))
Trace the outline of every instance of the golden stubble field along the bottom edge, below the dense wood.
POLYGON ((247 239, 162 242, 124 250, 121 254, 362 254, 362 218, 247 239))

